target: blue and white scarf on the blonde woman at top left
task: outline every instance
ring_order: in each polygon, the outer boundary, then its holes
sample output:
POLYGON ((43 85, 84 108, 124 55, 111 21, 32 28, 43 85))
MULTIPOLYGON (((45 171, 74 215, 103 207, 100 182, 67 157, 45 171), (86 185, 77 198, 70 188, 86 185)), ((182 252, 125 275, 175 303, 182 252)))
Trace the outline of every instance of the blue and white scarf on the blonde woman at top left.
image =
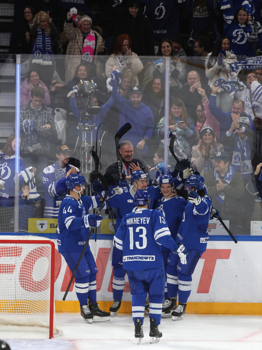
POLYGON ((37 30, 37 37, 33 47, 33 59, 32 63, 38 63, 41 65, 52 64, 53 43, 52 36, 46 34, 46 31, 42 31, 41 28, 37 30))

